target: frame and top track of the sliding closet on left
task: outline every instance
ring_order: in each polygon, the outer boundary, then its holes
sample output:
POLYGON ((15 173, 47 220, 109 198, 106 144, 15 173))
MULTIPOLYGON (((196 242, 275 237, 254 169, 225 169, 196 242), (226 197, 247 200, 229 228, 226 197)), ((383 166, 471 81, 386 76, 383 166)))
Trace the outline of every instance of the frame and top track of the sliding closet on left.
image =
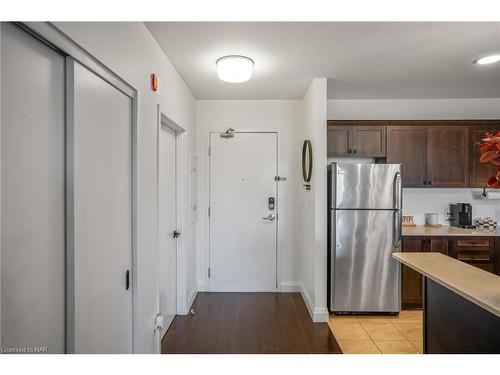
MULTIPOLYGON (((66 353, 74 352, 74 266, 73 266, 73 165, 72 165, 72 151, 73 143, 72 126, 73 126, 73 64, 78 62, 92 73, 99 76, 101 79, 121 91, 128 96, 132 101, 131 113, 131 272, 132 272, 132 353, 137 352, 136 348, 136 331, 138 316, 138 303, 137 303, 137 192, 138 192, 138 137, 137 137, 137 122, 138 122, 138 101, 139 93, 137 90, 129 85, 119 75, 114 73, 101 61, 83 49, 80 45, 75 43, 65 33, 59 30, 51 22, 14 22, 14 24, 38 39, 48 47, 59 52, 66 58, 66 126, 65 126, 65 183, 66 183, 66 353)), ((1 202, 0 202, 1 204, 1 202)))

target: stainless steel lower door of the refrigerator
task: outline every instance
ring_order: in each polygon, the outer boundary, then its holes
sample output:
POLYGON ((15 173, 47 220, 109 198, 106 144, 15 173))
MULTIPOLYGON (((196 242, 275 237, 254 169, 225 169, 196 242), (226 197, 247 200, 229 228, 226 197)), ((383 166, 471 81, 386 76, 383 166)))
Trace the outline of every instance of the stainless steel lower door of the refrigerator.
POLYGON ((398 312, 400 211, 333 210, 330 306, 335 312, 398 312))

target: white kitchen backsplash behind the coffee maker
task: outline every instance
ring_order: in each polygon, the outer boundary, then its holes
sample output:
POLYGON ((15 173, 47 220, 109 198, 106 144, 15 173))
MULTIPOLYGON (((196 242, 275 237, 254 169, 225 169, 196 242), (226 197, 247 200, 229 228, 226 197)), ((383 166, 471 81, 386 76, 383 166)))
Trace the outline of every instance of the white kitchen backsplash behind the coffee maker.
POLYGON ((450 203, 472 204, 472 218, 492 217, 500 223, 500 200, 481 199, 482 189, 403 189, 403 215, 413 215, 415 224, 425 223, 425 213, 436 212, 439 224, 448 225, 450 203))

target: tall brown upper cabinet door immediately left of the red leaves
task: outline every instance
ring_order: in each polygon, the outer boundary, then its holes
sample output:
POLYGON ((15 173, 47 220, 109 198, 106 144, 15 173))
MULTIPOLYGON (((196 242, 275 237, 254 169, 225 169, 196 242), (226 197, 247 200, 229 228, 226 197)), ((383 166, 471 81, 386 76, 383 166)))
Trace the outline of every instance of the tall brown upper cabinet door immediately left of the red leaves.
POLYGON ((430 187, 467 187, 468 129, 430 126, 427 129, 427 180, 430 187))

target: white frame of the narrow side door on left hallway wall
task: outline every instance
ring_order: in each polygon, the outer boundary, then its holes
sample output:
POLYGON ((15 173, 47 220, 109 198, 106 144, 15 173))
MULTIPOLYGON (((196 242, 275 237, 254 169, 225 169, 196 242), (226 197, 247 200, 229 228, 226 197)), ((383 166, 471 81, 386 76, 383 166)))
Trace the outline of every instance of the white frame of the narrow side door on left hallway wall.
MULTIPOLYGON (((183 249, 183 243, 182 243, 182 234, 183 234, 183 225, 182 225, 182 215, 181 215, 181 210, 179 210, 179 207, 181 207, 181 201, 180 201, 180 192, 181 192, 181 167, 182 167, 182 153, 181 153, 181 147, 183 143, 183 134, 186 132, 186 129, 184 129, 181 125, 179 125, 177 122, 172 120, 169 116, 165 114, 165 111, 163 107, 158 104, 157 106, 157 136, 156 136, 156 199, 157 202, 160 202, 160 136, 161 136, 161 131, 162 131, 162 126, 165 126, 168 128, 170 131, 172 131, 175 134, 175 222, 176 222, 176 227, 179 232, 181 232, 181 237, 179 237, 178 240, 175 241, 175 272, 176 272, 176 277, 175 277, 175 294, 176 294, 176 311, 177 314, 184 314, 186 307, 184 306, 186 303, 185 301, 181 298, 182 295, 186 295, 186 283, 184 282, 184 273, 182 272, 182 268, 180 267, 181 264, 184 264, 184 252, 182 251, 183 249), (184 292, 184 294, 183 294, 184 292)), ((158 251, 158 259, 160 258, 160 242, 159 242, 159 236, 160 236, 160 210, 159 210, 159 204, 156 205, 157 208, 157 233, 158 233, 158 246, 157 246, 157 251, 158 251)), ((158 315, 160 314, 160 268, 158 267, 158 275, 157 275, 157 283, 158 283, 158 295, 157 295, 157 310, 158 310, 158 315)), ((164 327, 165 332, 168 330, 168 327, 164 327)), ((159 333, 159 331, 155 331, 155 334, 159 333)), ((161 340, 163 337, 160 337, 159 334, 158 336, 158 348, 157 351, 158 353, 160 352, 161 349, 161 340)))

